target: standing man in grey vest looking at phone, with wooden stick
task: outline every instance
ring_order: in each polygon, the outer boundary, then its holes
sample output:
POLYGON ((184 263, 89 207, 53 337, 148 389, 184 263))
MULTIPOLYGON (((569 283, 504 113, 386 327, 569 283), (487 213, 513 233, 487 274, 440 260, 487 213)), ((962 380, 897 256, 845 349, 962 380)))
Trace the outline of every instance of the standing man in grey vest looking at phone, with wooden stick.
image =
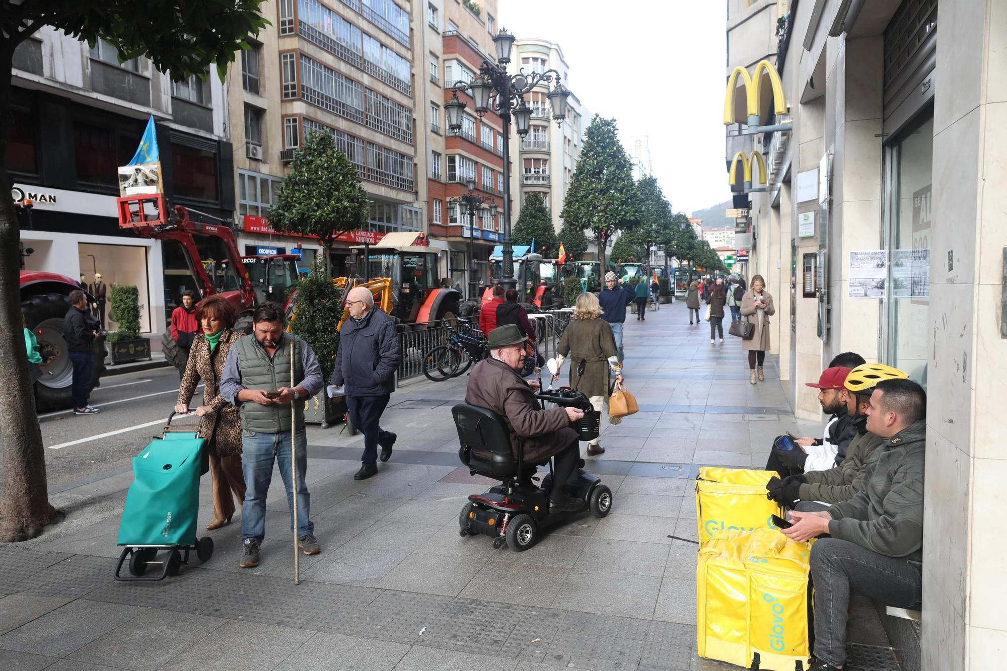
POLYGON ((242 472, 245 504, 242 507, 241 566, 259 565, 259 546, 266 533, 266 494, 273 478, 273 463, 280 468, 287 490, 293 530, 293 492, 290 481, 290 404, 294 403, 297 448, 297 537, 304 554, 318 554, 308 516, 310 495, 304 483, 307 469, 307 439, 304 435, 304 402, 324 384, 321 367, 311 346, 292 333, 283 332, 283 308, 264 303, 252 316, 254 338, 236 342, 224 365, 221 396, 236 405, 242 415, 242 472), (290 384, 290 349, 294 350, 294 387, 290 384))

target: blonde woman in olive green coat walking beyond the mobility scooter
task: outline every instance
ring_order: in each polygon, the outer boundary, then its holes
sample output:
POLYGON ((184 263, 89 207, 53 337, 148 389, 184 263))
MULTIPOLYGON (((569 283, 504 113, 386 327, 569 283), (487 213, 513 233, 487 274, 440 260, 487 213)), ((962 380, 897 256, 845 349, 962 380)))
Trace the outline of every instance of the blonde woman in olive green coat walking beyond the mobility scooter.
MULTIPOLYGON (((570 386, 591 401, 598 412, 608 403, 611 385, 611 375, 615 381, 622 383, 622 367, 619 366, 618 350, 615 348, 615 337, 612 327, 601 316, 601 304, 593 293, 582 293, 577 296, 573 319, 563 329, 563 337, 556 349, 556 374, 553 380, 559 380, 559 369, 566 359, 570 359, 570 386), (580 362, 586 361, 584 373, 577 376, 580 362)), ((619 422, 618 418, 609 417, 612 424, 619 422)), ((587 453, 590 456, 605 451, 600 444, 600 438, 587 443, 587 453)))

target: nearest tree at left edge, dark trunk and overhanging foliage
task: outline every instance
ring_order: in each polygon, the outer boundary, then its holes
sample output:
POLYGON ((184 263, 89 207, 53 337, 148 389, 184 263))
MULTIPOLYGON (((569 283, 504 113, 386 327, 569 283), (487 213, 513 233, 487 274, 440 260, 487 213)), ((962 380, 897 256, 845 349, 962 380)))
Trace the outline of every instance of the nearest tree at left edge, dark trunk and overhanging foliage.
POLYGON ((105 39, 127 60, 144 55, 175 80, 205 77, 217 63, 222 80, 235 52, 251 48, 268 21, 262 0, 0 0, 0 416, 3 417, 4 492, 0 541, 41 533, 56 518, 48 501, 42 436, 28 383, 21 338, 19 232, 7 174, 14 49, 42 26, 94 45, 105 39))

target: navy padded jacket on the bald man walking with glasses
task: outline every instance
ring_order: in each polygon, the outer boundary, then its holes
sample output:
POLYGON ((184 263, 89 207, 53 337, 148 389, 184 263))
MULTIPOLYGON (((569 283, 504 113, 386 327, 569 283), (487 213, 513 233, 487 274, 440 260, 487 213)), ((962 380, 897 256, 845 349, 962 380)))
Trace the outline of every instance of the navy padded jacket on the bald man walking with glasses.
POLYGON ((372 308, 359 322, 350 317, 342 324, 332 384, 345 384, 347 396, 391 394, 401 361, 395 322, 377 307, 372 308))

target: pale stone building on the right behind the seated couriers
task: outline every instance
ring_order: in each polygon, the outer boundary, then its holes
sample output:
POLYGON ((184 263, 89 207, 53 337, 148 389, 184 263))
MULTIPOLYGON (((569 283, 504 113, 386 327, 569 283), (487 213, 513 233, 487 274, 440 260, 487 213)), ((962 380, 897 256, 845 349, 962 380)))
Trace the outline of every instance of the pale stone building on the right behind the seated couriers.
POLYGON ((727 139, 728 160, 750 164, 737 190, 766 189, 747 194, 749 273, 776 298, 780 377, 807 419, 821 415, 802 383, 840 352, 926 387, 921 667, 998 666, 1007 230, 989 186, 1007 176, 1007 2, 732 0, 728 14, 727 74, 770 83, 756 73, 768 59, 785 110, 756 110, 759 124, 793 125, 727 139))

